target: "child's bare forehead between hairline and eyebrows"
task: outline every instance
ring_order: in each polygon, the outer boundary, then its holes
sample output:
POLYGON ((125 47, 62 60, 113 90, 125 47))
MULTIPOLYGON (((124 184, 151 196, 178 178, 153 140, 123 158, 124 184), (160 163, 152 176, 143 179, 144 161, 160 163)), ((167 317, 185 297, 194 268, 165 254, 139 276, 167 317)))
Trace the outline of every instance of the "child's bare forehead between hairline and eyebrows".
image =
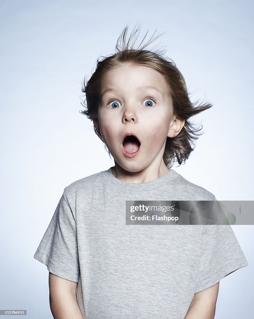
POLYGON ((114 67, 108 70, 101 80, 101 94, 110 91, 138 92, 141 88, 153 88, 161 94, 168 91, 166 81, 159 72, 139 65, 126 64, 114 67))

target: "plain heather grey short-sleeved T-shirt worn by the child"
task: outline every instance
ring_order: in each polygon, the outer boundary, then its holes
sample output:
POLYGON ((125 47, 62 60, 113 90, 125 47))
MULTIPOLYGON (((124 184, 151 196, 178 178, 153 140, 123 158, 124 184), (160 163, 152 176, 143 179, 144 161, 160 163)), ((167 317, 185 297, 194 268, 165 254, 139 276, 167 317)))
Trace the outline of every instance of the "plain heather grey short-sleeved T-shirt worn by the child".
POLYGON ((230 225, 126 225, 126 200, 216 200, 171 169, 143 184, 112 167, 64 188, 34 258, 78 282, 87 319, 184 319, 193 294, 248 265, 230 225))

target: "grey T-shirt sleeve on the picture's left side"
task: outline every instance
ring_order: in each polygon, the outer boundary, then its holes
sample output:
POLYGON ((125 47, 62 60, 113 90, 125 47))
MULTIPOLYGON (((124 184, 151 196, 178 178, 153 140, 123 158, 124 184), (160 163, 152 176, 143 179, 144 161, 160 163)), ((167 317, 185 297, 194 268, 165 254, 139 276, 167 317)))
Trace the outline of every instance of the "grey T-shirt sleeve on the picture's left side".
POLYGON ((70 208, 65 190, 34 258, 45 264, 52 274, 78 282, 80 269, 76 216, 70 208))

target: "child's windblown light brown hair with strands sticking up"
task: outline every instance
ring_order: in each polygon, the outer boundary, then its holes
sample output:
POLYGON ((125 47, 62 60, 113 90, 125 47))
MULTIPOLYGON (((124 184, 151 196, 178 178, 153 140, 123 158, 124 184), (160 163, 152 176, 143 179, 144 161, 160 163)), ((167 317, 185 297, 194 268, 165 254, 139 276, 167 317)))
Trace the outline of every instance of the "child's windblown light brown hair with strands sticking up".
MULTIPOLYGON (((192 116, 211 108, 212 104, 198 104, 199 101, 192 103, 190 101, 185 79, 174 61, 168 57, 164 57, 163 51, 144 49, 160 35, 155 38, 152 36, 149 41, 141 46, 147 35, 146 33, 138 48, 134 48, 140 33, 139 29, 139 27, 134 28, 128 41, 126 41, 127 25, 117 40, 115 54, 107 57, 101 56, 101 61, 99 61, 100 58, 97 59, 96 70, 89 81, 86 81, 84 78, 82 83, 82 92, 85 93, 86 104, 85 100, 82 101, 81 104, 86 110, 80 110, 80 113, 86 115, 91 121, 98 117, 98 108, 101 102, 101 79, 108 70, 122 66, 124 63, 131 63, 156 70, 163 76, 168 86, 168 92, 172 101, 172 115, 178 115, 185 120, 182 130, 177 136, 167 137, 163 154, 163 161, 168 168, 171 168, 176 161, 180 166, 188 159, 190 153, 194 150, 195 140, 202 134, 199 132, 202 130, 203 126, 200 125, 200 127, 195 128, 189 119, 192 116)), ((97 131, 95 125, 94 131, 103 141, 103 138, 100 135, 100 132, 97 131)), ((110 152, 106 148, 106 145, 105 149, 110 156, 110 152)))

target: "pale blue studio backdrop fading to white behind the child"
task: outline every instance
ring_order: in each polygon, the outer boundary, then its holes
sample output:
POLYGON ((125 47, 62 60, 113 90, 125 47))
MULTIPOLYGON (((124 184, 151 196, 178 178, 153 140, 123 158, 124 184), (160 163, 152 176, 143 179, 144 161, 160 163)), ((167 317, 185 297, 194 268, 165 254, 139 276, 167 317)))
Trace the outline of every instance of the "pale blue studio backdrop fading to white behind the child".
MULTIPOLYGON (((52 318, 48 271, 33 255, 64 187, 114 164, 78 111, 84 75, 114 53, 127 23, 167 31, 157 43, 192 100, 214 104, 194 118, 205 133, 174 169, 218 200, 253 200, 253 3, 12 0, 0 9, 0 309, 52 318)), ((253 316, 253 226, 232 228, 249 265, 220 282, 217 319, 253 316)))

